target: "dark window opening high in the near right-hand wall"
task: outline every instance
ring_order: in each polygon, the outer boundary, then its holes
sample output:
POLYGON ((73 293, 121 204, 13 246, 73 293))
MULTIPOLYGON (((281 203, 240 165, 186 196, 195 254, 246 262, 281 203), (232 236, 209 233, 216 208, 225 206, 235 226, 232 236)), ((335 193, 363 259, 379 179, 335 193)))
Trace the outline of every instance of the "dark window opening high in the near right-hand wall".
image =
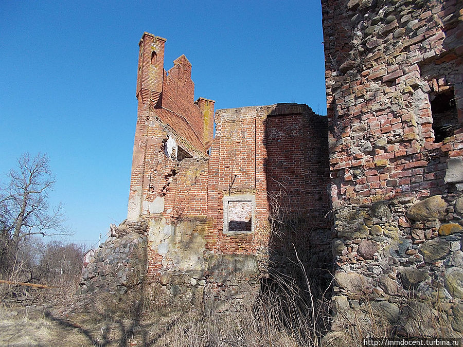
POLYGON ((434 142, 441 142, 452 136, 458 124, 458 112, 453 88, 430 95, 431 113, 433 116, 434 142))

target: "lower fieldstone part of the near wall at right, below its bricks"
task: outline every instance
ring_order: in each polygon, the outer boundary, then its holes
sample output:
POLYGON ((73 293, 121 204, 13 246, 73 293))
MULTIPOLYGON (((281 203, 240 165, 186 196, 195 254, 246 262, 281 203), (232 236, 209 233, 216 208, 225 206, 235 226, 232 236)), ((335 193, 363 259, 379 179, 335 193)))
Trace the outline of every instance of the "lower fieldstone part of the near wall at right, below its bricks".
POLYGON ((333 330, 382 323, 412 336, 460 336, 463 197, 380 200, 337 214, 333 330), (432 322, 432 324, 431 324, 432 322))

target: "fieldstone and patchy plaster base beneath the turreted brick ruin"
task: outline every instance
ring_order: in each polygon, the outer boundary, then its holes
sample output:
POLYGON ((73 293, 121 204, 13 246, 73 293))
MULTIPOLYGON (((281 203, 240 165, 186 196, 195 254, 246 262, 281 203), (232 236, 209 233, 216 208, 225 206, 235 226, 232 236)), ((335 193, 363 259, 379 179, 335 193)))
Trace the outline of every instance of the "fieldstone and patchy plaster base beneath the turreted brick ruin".
MULTIPOLYGON (((125 294, 147 276, 152 247, 164 255, 158 279, 164 303, 194 305, 208 311, 241 311, 259 293, 257 258, 250 254, 203 255, 201 229, 205 221, 180 221, 175 226, 158 218, 124 221, 111 226, 102 243, 82 270, 80 294, 99 290, 125 294), (159 241, 162 238, 162 242, 159 241)), ((207 252, 206 252, 207 253, 207 252)), ((157 281, 156 281, 157 285, 157 281)))

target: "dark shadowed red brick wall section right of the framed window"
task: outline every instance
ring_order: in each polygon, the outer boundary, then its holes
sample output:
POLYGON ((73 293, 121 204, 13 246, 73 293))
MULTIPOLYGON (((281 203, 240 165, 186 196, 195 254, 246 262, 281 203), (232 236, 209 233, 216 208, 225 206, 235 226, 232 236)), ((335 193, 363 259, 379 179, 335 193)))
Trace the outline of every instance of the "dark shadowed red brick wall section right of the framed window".
POLYGON ((326 117, 288 114, 267 118, 267 189, 281 209, 325 226, 329 210, 326 117))

